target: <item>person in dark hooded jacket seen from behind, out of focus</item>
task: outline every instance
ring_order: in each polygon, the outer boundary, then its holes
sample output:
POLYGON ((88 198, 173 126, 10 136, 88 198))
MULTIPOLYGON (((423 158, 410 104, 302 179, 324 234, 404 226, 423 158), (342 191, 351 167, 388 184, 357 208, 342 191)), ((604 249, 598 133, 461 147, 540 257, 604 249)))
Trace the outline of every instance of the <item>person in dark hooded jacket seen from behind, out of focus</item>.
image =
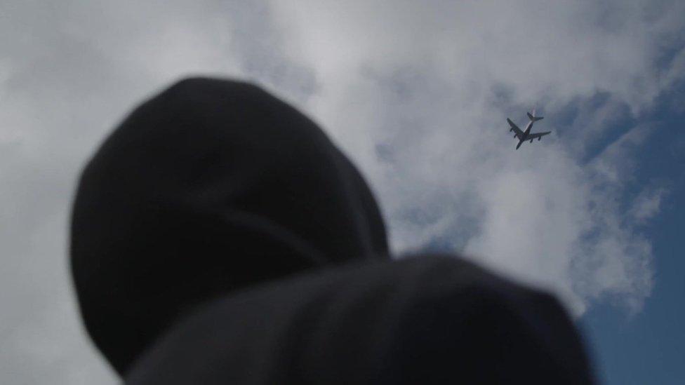
POLYGON ((392 259, 364 178, 248 83, 135 109, 78 184, 86 330, 127 384, 592 384, 552 295, 455 255, 392 259))

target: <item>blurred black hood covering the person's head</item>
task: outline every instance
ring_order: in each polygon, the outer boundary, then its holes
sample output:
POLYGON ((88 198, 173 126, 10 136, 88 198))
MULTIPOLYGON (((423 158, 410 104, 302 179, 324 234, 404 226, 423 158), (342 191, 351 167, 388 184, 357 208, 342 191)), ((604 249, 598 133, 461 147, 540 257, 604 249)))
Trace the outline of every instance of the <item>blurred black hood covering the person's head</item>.
POLYGON ((72 213, 81 313, 119 373, 201 302, 363 259, 387 259, 387 241, 361 175, 310 119, 235 81, 187 79, 135 109, 72 213))

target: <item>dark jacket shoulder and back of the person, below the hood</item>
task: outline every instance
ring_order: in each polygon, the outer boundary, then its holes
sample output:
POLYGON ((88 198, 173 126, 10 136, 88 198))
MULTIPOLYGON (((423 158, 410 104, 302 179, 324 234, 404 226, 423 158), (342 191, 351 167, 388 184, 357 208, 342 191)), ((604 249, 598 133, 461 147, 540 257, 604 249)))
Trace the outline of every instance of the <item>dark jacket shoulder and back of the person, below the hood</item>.
POLYGON ((128 384, 591 384, 557 301, 446 256, 351 264, 227 295, 128 384))

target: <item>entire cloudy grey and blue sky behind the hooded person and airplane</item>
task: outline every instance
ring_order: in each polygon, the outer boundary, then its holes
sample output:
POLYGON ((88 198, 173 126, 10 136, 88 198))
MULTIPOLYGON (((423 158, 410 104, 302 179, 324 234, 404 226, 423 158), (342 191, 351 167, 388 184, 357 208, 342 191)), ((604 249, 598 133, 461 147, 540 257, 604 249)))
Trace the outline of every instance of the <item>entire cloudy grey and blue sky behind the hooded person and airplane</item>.
POLYGON ((557 294, 607 384, 685 382, 682 1, 0 1, 0 382, 114 384, 67 223, 84 162, 182 76, 251 80, 371 183, 394 252, 557 294), (506 118, 552 130, 515 151, 506 118))

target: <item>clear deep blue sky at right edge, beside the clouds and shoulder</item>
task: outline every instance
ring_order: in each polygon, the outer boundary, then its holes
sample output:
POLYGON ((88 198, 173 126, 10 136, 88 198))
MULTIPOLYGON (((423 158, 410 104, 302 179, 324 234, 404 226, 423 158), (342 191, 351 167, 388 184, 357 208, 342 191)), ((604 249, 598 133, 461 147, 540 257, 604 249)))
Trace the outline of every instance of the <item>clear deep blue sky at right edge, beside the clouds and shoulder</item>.
POLYGON ((606 384, 685 383, 684 96, 681 85, 643 117, 658 131, 641 148, 634 189, 654 181, 668 189, 660 214, 643 230, 653 242, 651 296, 634 316, 600 303, 580 319, 606 384))

